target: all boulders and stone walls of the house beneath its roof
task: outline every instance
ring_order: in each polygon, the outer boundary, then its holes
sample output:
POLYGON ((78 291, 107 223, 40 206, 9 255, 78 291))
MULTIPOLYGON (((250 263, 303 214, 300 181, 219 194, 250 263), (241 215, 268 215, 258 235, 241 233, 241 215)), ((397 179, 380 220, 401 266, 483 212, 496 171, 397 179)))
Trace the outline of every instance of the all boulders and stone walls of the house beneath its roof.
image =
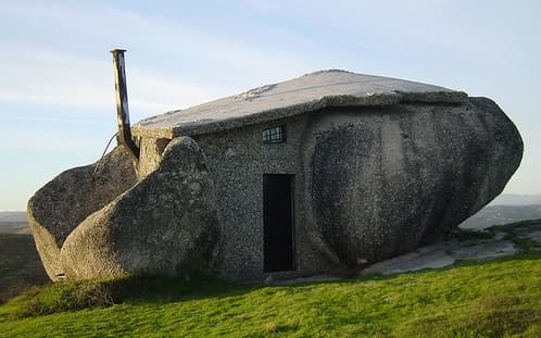
POLYGON ((439 240, 490 202, 523 142, 491 100, 326 108, 194 139, 116 148, 28 203, 52 279, 126 274, 231 280, 364 266, 439 240), (285 125, 286 142, 261 133, 285 125), (263 175, 294 177, 294 266, 264 273, 263 175))

